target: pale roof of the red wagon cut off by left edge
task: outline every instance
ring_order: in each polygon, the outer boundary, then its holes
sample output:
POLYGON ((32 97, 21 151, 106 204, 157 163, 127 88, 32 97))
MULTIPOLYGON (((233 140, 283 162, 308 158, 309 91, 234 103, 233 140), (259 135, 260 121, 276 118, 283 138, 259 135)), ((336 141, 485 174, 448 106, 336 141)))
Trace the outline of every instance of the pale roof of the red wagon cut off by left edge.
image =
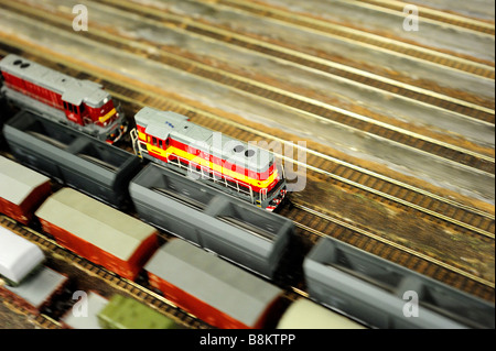
POLYGON ((22 201, 48 177, 0 156, 0 197, 14 204, 22 201))

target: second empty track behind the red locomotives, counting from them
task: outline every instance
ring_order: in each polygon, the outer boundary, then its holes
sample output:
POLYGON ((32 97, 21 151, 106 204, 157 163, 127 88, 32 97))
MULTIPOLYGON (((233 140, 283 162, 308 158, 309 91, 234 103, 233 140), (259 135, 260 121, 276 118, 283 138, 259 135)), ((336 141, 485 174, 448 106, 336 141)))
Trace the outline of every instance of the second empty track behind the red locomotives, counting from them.
MULTIPOLYGON (((11 8, 11 6, 8 6, 8 8, 11 8)), ((12 8, 15 12, 21 12, 23 15, 28 15, 34 20, 42 20, 57 29, 73 32, 72 21, 60 20, 53 15, 47 15, 47 13, 43 11, 35 11, 24 7, 12 8)), ((265 100, 276 102, 283 108, 295 109, 296 111, 309 113, 311 118, 328 120, 339 125, 352 128, 354 131, 364 132, 368 135, 374 135, 381 140, 398 143, 409 149, 435 155, 450 162, 460 163, 492 175, 495 174, 495 162, 492 156, 486 156, 464 150, 463 147, 450 145, 395 125, 376 121, 369 117, 348 112, 328 103, 306 98, 298 94, 292 94, 267 84, 218 69, 216 67, 207 66, 190 58, 168 53, 165 51, 155 51, 150 54, 149 51, 152 50, 151 45, 132 43, 120 36, 116 36, 97 29, 88 31, 86 33, 86 37, 118 50, 128 51, 133 54, 140 53, 141 55, 144 55, 145 57, 160 64, 193 74, 216 84, 222 84, 230 88, 255 95, 265 100)))

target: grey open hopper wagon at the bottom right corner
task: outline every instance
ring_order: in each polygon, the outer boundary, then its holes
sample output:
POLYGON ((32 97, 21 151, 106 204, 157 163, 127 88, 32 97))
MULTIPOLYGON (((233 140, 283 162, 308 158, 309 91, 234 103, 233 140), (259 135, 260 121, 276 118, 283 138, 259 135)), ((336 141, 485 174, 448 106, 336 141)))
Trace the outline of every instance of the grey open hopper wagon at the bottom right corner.
POLYGON ((312 299, 371 327, 495 327, 493 304, 333 238, 317 242, 303 268, 312 299))

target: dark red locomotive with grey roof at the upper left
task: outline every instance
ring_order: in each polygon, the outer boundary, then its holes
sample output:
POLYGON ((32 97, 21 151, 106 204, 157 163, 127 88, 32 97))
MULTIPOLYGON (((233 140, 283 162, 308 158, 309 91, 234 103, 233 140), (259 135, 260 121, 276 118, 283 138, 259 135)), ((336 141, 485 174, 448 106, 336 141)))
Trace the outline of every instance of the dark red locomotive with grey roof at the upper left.
POLYGON ((94 81, 80 80, 18 55, 0 61, 1 92, 15 105, 108 143, 127 131, 123 113, 94 81))

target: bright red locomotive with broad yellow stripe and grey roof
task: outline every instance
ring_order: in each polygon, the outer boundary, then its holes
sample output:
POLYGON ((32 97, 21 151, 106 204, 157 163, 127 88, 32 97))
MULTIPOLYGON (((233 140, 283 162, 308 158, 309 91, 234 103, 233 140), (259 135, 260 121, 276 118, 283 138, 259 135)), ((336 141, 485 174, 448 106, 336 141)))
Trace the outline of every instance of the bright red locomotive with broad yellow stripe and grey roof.
POLYGON ((131 131, 138 155, 172 164, 197 179, 267 210, 285 196, 283 169, 271 152, 214 132, 174 112, 149 107, 134 116, 131 131), (281 174, 282 173, 282 174, 281 174))

